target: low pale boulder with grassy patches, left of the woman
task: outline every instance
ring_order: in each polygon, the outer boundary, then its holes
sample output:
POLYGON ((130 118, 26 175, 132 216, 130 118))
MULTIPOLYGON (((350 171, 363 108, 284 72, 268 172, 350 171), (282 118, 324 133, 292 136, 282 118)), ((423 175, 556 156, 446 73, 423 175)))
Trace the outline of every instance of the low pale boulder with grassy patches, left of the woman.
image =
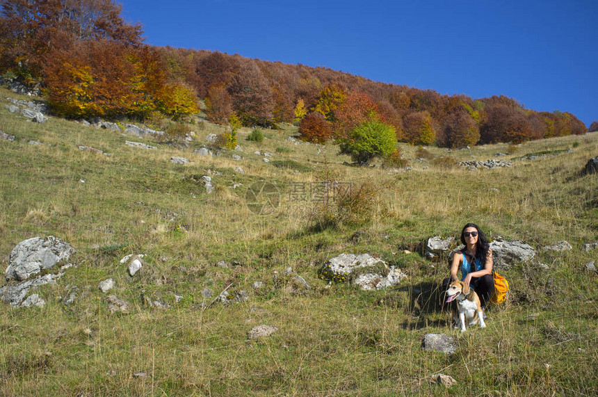
POLYGON ((320 277, 335 282, 352 280, 359 289, 370 291, 394 286, 407 275, 371 254, 340 254, 320 269, 320 277))

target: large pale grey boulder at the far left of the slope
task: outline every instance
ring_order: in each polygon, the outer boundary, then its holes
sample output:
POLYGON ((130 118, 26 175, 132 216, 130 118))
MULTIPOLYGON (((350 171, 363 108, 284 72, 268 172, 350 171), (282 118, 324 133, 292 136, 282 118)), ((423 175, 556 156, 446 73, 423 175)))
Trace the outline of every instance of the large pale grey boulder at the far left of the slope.
POLYGON ((54 267, 58 262, 67 261, 74 248, 69 243, 54 236, 33 237, 18 243, 10 252, 6 279, 24 281, 31 275, 54 267))

